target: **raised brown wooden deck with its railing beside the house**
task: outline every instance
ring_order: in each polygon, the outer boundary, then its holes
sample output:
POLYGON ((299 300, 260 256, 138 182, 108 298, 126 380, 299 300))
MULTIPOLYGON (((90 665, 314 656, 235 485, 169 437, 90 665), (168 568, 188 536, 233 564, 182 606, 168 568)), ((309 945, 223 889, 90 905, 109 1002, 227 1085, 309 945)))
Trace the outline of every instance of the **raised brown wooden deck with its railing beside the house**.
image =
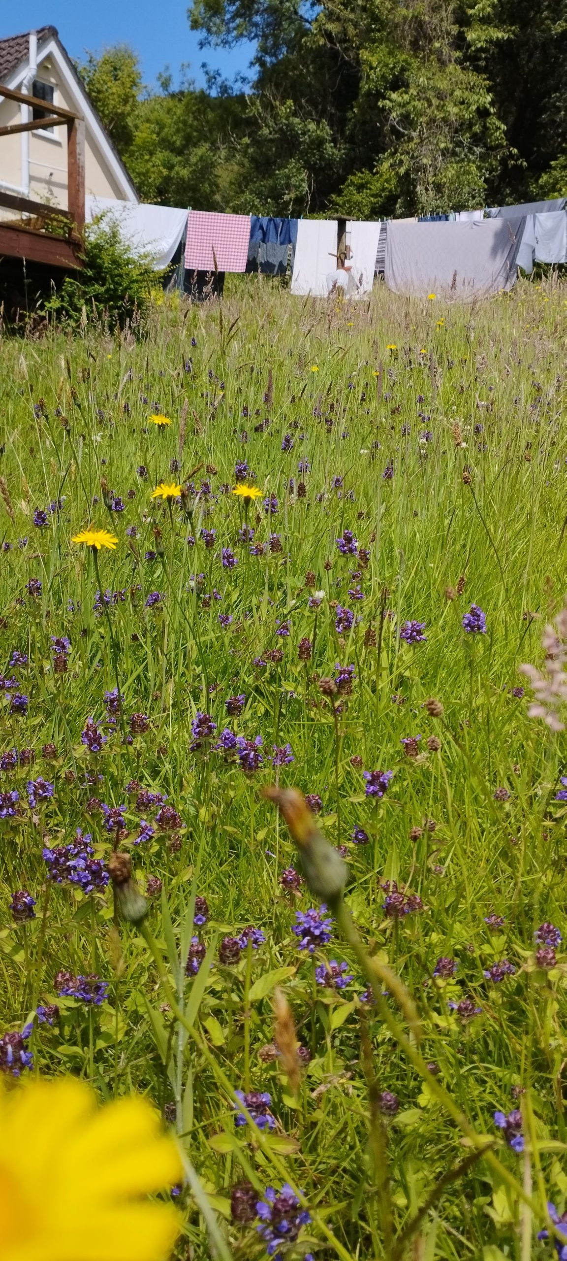
MULTIPOLYGON (((0 189, 0 207, 14 212, 14 217, 0 218, 0 275, 3 260, 25 259, 43 264, 49 270, 79 270, 82 267, 81 241, 84 227, 84 121, 72 110, 49 105, 38 97, 26 96, 0 83, 0 97, 35 106, 43 116, 30 122, 18 122, 0 127, 3 136, 18 131, 37 131, 42 127, 67 126, 67 203, 63 211, 26 197, 15 197, 0 189)), ((1 150, 0 150, 1 153, 1 150)))

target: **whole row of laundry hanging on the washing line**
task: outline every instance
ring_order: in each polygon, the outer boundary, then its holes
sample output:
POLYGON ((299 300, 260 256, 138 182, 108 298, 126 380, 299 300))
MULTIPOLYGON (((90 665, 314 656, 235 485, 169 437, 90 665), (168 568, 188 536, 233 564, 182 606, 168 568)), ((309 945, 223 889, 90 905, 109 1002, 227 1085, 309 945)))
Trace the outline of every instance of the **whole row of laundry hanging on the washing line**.
POLYGON ((291 274, 291 293, 349 296, 375 274, 397 293, 478 296, 509 289, 518 266, 567 262, 567 199, 408 219, 304 219, 222 214, 87 197, 87 219, 111 214, 156 270, 178 262, 180 286, 222 293, 226 272, 291 274))

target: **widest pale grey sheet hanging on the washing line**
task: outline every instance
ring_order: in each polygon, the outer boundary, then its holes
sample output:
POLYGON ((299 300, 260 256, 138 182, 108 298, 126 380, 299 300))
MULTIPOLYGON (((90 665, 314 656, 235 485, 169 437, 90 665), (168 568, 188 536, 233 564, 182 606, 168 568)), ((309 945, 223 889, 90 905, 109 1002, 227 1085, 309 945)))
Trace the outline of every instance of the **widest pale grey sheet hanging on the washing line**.
POLYGON ((471 300, 512 289, 525 219, 388 223, 384 279, 394 294, 471 300))

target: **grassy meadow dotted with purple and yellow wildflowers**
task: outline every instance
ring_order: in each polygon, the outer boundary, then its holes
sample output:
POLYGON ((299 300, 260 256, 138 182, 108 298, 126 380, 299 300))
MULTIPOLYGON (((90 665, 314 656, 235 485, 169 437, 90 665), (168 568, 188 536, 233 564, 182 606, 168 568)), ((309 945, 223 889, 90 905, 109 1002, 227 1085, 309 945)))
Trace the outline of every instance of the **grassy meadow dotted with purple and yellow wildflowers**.
POLYGON ((566 351, 549 279, 0 342, 0 1069, 152 1101, 178 1258, 567 1256, 566 351))

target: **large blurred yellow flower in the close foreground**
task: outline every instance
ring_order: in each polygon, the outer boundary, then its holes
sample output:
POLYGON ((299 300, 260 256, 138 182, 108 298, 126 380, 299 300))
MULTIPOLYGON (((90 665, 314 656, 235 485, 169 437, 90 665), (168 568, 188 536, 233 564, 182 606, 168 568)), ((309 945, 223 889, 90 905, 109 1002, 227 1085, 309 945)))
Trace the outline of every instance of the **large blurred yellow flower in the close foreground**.
POLYGON ((175 1142, 139 1097, 97 1107, 72 1077, 0 1083, 3 1261, 165 1261, 171 1204, 147 1203, 183 1177, 175 1142))

